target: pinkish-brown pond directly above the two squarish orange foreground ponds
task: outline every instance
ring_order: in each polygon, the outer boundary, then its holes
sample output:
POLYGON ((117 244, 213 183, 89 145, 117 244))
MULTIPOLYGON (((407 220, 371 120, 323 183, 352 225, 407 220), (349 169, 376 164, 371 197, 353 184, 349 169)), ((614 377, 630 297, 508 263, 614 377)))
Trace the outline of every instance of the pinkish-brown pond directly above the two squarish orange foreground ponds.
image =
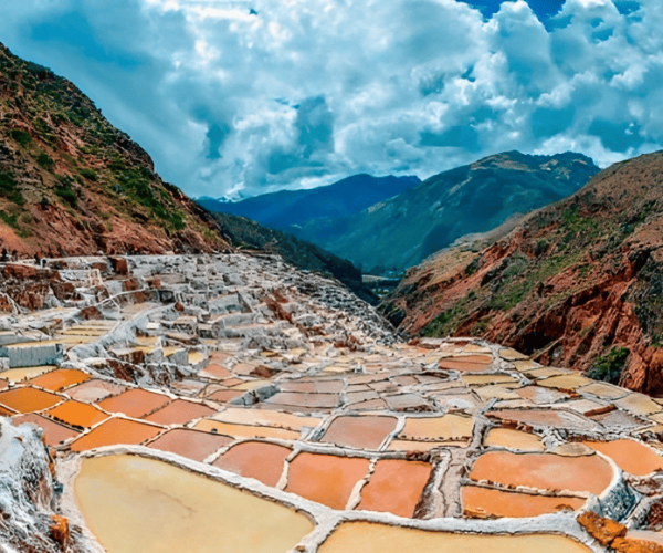
POLYGON ((397 422, 394 417, 337 417, 320 441, 341 447, 378 449, 396 429, 397 422))

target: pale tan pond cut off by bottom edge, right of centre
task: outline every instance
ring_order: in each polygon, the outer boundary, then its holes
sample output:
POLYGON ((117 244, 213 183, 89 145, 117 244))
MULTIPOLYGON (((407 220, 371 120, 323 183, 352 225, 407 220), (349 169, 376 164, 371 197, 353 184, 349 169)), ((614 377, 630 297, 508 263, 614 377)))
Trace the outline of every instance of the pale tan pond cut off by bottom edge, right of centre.
POLYGON ((373 522, 344 522, 318 553, 589 553, 585 545, 555 534, 476 535, 389 526, 373 522))

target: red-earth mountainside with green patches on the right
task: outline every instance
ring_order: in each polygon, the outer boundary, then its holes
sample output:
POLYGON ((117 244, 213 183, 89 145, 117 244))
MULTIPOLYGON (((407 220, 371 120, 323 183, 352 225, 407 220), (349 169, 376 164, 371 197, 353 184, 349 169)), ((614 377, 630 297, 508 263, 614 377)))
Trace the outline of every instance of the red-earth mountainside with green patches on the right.
POLYGON ((410 335, 482 336, 663 394, 663 153, 613 165, 490 242, 410 270, 382 312, 410 335))

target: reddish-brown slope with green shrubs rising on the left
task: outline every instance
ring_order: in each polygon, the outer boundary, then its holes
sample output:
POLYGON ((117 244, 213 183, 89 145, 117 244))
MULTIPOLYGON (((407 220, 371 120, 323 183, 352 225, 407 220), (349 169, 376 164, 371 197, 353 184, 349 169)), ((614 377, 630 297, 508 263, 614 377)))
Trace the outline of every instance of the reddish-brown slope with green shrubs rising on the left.
POLYGON ((227 248, 211 216, 65 79, 0 44, 0 249, 46 257, 227 248))

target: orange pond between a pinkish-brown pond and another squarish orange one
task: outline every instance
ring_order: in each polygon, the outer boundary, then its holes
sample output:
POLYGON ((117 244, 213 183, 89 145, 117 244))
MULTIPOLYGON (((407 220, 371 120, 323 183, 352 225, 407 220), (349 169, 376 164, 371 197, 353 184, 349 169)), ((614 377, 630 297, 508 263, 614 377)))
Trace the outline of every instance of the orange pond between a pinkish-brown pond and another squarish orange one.
POLYGON ((332 509, 345 509, 355 484, 368 472, 368 459, 299 453, 290 462, 291 491, 332 509))

